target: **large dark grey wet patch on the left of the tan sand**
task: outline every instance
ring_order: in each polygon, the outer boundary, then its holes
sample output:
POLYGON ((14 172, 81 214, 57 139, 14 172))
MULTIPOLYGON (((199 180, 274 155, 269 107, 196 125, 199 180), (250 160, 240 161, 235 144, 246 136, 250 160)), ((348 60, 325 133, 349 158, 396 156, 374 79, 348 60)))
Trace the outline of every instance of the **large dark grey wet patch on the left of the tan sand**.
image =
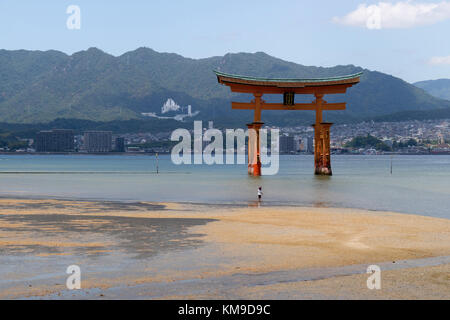
MULTIPOLYGON (((123 209, 122 209, 123 210, 123 209)), ((105 242, 104 246, 59 247, 41 245, 6 245, 0 247, 2 255, 36 255, 70 253, 101 256, 121 251, 144 259, 159 253, 182 250, 200 246, 201 234, 192 234, 188 228, 205 225, 212 219, 185 218, 135 218, 111 216, 83 216, 66 214, 0 215, 0 232, 14 232, 31 240, 61 239, 67 242, 79 242, 79 239, 93 239, 95 243, 105 242), (108 239, 118 240, 111 246, 108 239), (97 239, 97 240, 96 240, 97 239)), ((45 240, 46 242, 50 240, 45 240)))

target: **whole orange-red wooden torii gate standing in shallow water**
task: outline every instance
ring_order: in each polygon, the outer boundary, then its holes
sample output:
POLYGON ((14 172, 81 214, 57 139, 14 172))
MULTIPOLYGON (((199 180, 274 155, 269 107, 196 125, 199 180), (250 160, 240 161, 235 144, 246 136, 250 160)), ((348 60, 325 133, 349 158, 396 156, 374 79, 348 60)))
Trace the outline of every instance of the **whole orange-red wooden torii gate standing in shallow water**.
POLYGON ((332 175, 330 127, 332 123, 323 122, 323 111, 345 110, 345 103, 327 103, 323 96, 326 94, 342 94, 347 88, 359 83, 362 72, 330 78, 316 79, 267 79, 227 74, 214 71, 219 83, 229 86, 232 92, 250 93, 255 99, 249 103, 232 102, 232 109, 254 110, 253 122, 249 129, 256 131, 255 137, 249 139, 250 149, 256 150, 253 159, 249 152, 249 174, 261 175, 259 130, 264 125, 261 122, 262 110, 314 110, 316 123, 314 126, 314 166, 317 175, 332 175), (266 103, 264 94, 283 94, 283 103, 266 103), (316 100, 312 103, 295 103, 296 94, 312 94, 316 100), (255 159, 256 158, 256 159, 255 159))

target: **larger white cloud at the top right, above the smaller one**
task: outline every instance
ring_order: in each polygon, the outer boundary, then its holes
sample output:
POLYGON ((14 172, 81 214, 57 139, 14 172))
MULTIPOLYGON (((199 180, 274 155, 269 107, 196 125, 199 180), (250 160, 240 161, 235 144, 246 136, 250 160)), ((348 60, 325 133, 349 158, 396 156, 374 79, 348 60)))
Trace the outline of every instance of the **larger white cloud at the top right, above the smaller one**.
POLYGON ((344 17, 334 17, 335 23, 368 29, 411 28, 434 24, 450 19, 450 2, 397 3, 379 2, 374 5, 360 4, 344 17))

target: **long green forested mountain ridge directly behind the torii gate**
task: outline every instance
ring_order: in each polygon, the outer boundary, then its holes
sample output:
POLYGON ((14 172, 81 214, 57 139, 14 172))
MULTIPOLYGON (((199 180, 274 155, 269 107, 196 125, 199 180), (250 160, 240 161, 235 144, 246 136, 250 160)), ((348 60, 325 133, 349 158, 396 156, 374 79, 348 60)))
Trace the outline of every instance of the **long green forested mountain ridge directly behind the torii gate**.
MULTIPOLYGON (((353 65, 303 66, 261 52, 195 60, 148 48, 118 57, 96 48, 73 55, 0 50, 0 122, 140 119, 142 113, 159 113, 168 98, 180 106, 192 105, 193 111, 200 111, 196 119, 223 125, 250 121, 250 112, 230 108, 232 97, 243 101, 250 97, 234 97, 227 87, 217 83, 214 69, 251 76, 308 78, 364 71, 361 83, 344 97, 326 97, 330 102, 348 102, 346 111, 327 113, 327 120, 331 121, 358 121, 408 110, 450 107, 450 101, 380 72, 353 65)), ((266 98, 276 99, 281 98, 266 98)), ((313 115, 267 111, 263 119, 271 124, 294 125, 311 122, 313 115)))

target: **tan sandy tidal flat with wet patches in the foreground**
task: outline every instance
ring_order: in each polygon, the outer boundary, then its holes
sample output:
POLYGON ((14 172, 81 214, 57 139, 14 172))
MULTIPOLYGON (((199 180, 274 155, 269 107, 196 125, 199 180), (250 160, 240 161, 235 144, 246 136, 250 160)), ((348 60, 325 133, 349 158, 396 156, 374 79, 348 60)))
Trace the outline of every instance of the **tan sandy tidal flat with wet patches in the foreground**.
POLYGON ((0 298, 450 299, 450 220, 0 199, 0 298), (381 290, 366 285, 373 264, 381 290), (81 268, 81 290, 66 288, 70 265, 81 268))

